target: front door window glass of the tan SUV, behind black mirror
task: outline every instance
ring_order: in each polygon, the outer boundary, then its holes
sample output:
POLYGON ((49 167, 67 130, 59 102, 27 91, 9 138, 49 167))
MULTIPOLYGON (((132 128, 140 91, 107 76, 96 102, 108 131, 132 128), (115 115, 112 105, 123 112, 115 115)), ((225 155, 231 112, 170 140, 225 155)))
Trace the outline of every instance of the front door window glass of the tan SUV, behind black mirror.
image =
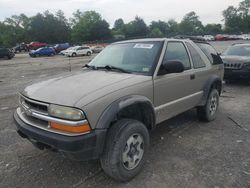
POLYGON ((182 42, 168 42, 163 63, 168 61, 180 61, 184 65, 185 70, 191 69, 190 59, 182 42))

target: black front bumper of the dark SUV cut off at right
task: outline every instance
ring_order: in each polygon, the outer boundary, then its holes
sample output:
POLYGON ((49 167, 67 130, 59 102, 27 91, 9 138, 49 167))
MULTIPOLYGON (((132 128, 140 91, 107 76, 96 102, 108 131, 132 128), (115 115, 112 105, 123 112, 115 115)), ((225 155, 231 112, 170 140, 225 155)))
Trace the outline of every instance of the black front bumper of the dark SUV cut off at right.
POLYGON ((225 68, 224 78, 225 79, 250 78, 250 70, 246 67, 239 70, 225 68))

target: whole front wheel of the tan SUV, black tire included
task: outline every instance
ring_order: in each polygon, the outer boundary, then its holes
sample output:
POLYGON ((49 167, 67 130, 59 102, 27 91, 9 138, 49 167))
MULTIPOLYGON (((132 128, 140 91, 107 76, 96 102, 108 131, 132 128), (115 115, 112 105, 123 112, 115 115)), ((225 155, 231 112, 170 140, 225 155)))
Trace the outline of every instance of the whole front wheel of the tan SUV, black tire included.
POLYGON ((148 146, 149 133, 145 125, 131 119, 119 120, 110 128, 107 135, 104 152, 101 157, 101 165, 104 172, 121 182, 133 179, 143 167, 148 146), (131 143, 128 147, 128 142, 131 138, 133 141, 137 139, 138 143, 131 143), (138 146, 140 147, 138 148, 138 146), (128 169, 129 162, 124 162, 123 159, 124 156, 129 159, 130 155, 138 158, 130 160, 130 162, 135 161, 135 166, 128 169))

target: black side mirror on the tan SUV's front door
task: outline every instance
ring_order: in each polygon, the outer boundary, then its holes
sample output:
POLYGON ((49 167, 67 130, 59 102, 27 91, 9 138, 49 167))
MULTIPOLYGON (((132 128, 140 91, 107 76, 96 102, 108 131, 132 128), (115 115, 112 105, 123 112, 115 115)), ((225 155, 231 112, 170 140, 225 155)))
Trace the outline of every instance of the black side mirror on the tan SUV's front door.
POLYGON ((185 67, 182 62, 178 60, 166 61, 163 62, 161 66, 160 75, 170 74, 170 73, 181 73, 185 70, 185 67))

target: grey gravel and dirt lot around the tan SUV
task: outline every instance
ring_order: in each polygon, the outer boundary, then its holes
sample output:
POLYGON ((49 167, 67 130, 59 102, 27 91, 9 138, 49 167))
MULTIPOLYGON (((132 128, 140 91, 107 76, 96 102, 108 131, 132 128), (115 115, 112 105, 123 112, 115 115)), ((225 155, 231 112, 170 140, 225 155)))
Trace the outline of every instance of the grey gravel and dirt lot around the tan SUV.
MULTIPOLYGON (((229 42, 216 42, 219 51, 229 42)), ((250 81, 225 85, 218 117, 199 122, 195 110, 154 130, 144 170, 121 184, 98 161, 73 162, 21 139, 12 120, 16 93, 34 79, 75 71, 88 57, 0 60, 0 187, 246 187, 250 188, 250 81)))

